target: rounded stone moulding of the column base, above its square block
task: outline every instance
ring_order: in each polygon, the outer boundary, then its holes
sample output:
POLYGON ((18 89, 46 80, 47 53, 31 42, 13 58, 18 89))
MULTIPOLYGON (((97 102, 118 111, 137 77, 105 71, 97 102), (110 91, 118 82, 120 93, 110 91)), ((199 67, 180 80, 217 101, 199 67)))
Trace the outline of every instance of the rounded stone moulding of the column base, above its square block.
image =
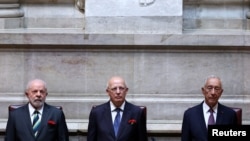
POLYGON ((0 0, 0 18, 23 17, 24 12, 20 9, 19 0, 0 0))

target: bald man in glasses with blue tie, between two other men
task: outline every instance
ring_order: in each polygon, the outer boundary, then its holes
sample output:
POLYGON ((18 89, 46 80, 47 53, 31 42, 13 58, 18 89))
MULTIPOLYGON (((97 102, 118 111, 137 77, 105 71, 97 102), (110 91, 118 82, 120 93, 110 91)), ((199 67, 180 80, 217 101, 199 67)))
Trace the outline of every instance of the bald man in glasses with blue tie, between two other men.
POLYGON ((120 76, 111 77, 106 92, 109 101, 91 109, 87 141, 147 141, 145 113, 126 101, 125 80, 120 76), (116 119, 120 122, 118 127, 116 119))

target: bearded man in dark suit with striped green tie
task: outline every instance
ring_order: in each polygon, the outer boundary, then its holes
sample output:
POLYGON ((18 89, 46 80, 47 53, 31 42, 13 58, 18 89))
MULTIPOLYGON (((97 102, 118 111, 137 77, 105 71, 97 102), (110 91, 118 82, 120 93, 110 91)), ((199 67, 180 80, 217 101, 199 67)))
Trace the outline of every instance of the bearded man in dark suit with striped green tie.
POLYGON ((5 141, 69 141, 63 111, 45 102, 46 83, 31 80, 25 95, 29 102, 9 112, 5 141))

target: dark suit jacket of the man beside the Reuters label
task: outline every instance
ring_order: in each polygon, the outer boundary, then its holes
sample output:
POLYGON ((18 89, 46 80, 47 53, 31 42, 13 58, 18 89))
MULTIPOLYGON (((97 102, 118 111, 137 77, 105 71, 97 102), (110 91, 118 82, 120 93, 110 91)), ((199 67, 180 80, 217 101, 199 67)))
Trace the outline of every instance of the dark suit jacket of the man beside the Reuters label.
MULTIPOLYGON (((208 133, 203 115, 202 104, 187 109, 182 121, 181 141, 207 141, 208 133)), ((216 124, 237 125, 234 110, 218 103, 216 124)))

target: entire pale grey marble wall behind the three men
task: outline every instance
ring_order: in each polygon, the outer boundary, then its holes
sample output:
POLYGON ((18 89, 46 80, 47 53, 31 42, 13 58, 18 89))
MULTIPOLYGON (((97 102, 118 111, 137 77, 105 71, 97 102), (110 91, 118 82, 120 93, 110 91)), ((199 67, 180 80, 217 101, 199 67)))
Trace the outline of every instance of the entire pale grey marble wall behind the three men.
POLYGON ((92 105, 108 101, 113 75, 127 80, 129 101, 147 106, 151 134, 180 134, 183 112, 203 100, 210 74, 223 80, 221 102, 241 107, 250 123, 249 1, 86 0, 84 11, 75 0, 9 2, 24 15, 0 19, 2 131, 8 105, 26 103, 27 81, 41 78, 70 131, 86 132, 92 105))

